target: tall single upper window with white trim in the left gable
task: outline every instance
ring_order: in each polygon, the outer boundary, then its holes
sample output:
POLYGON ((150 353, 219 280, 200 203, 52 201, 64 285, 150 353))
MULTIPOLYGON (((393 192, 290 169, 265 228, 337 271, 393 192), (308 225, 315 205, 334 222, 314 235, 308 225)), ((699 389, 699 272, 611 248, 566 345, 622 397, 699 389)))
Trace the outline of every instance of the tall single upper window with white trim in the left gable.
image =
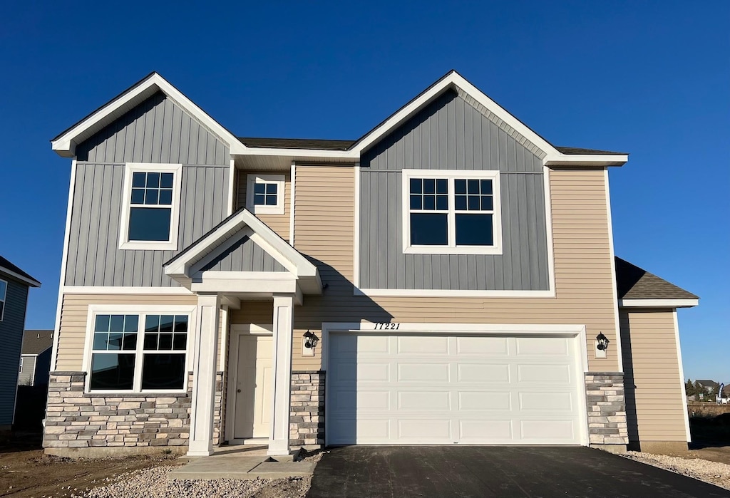
POLYGON ((127 163, 120 249, 177 249, 180 164, 127 163))

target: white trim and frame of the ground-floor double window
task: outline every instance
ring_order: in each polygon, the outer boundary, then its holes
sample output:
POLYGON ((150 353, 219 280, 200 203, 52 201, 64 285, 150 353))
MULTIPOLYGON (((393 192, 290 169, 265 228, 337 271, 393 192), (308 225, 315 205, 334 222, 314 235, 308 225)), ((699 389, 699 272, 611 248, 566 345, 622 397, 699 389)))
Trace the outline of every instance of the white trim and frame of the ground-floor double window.
MULTIPOLYGON (((84 392, 86 394, 145 394, 145 393, 171 393, 181 394, 188 392, 188 372, 191 370, 192 361, 192 337, 196 333, 196 306, 156 306, 156 305, 89 305, 88 314, 86 316, 86 338, 84 345, 84 360, 83 360, 83 371, 88 375, 84 385, 84 392), (171 315, 180 314, 188 315, 188 344, 185 348, 185 378, 183 379, 183 389, 141 389, 142 387, 142 363, 135 360, 134 363, 134 383, 132 384, 133 389, 119 389, 113 391, 101 391, 98 389, 91 390, 91 355, 93 354, 93 332, 94 323, 96 322, 96 315, 104 314, 127 314, 127 315, 141 315, 141 314, 159 314, 159 315, 171 315), (139 389, 135 389, 139 388, 139 389)), ((139 319, 139 329, 137 336, 137 349, 134 350, 138 360, 142 359, 144 354, 144 327, 142 327, 142 317, 139 319), (141 330, 141 332, 139 332, 141 330), (142 336, 142 337, 140 337, 142 336)), ((131 351, 130 351, 131 352, 131 351)), ((182 353, 183 351, 180 351, 182 353)))

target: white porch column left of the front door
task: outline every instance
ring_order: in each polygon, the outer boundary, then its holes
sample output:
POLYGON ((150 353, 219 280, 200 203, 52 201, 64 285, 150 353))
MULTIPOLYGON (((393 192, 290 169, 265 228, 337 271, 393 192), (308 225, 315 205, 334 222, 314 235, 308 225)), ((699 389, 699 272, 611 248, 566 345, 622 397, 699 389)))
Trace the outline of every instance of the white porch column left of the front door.
POLYGON ((215 405, 215 355, 218 351, 220 296, 198 295, 193 337, 193 399, 191 400, 188 456, 213 453, 213 408, 215 405))

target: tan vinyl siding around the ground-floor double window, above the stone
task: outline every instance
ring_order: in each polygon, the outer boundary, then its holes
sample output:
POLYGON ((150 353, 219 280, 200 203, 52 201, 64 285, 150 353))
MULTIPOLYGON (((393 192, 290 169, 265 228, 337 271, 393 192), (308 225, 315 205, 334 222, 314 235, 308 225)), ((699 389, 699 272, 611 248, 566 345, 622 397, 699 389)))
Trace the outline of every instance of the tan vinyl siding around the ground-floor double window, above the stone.
MULTIPOLYGON (((79 371, 83 367, 86 323, 89 305, 196 305, 194 295, 122 295, 122 294, 66 294, 61 305, 61 329, 58 333, 58 357, 51 370, 79 371)), ((223 322, 218 331, 218 344, 222 343, 223 322)), ((191 333, 189 331, 188 333, 191 333)), ((190 335, 192 337, 192 335, 190 335)), ((188 352, 192 351, 192 345, 188 352)), ((218 348, 220 359, 220 346, 218 348)), ((216 368, 219 363, 216 362, 216 368)), ((189 367, 192 369, 193 365, 189 367)))

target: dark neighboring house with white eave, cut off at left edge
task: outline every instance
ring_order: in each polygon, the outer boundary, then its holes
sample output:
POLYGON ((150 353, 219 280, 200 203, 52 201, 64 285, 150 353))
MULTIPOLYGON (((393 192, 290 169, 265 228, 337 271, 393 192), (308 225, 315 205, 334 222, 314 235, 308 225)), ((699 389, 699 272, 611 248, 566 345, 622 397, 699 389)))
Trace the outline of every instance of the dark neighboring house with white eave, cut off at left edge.
POLYGON ((41 284, 0 256, 0 430, 12 427, 29 287, 41 284))

